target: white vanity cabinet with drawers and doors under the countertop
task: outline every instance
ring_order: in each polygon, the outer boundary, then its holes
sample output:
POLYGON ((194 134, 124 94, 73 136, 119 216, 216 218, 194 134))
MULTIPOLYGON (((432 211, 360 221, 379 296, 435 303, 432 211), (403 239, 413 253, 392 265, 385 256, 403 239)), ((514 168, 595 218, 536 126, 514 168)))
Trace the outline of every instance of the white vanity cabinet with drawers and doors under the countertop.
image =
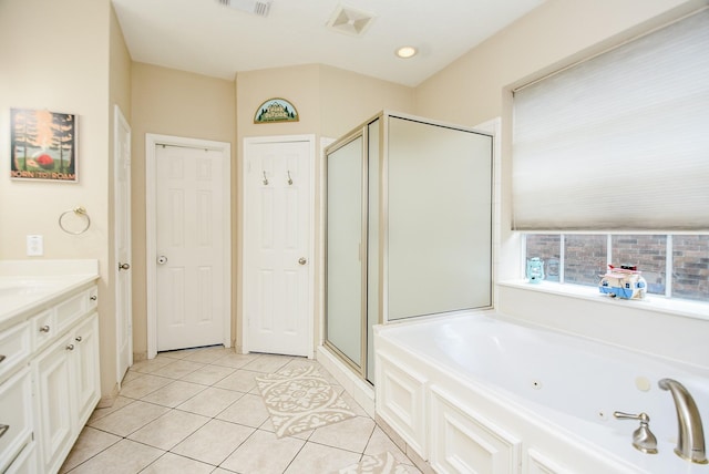
POLYGON ((0 310, 0 473, 56 473, 99 402, 95 279, 0 310))

